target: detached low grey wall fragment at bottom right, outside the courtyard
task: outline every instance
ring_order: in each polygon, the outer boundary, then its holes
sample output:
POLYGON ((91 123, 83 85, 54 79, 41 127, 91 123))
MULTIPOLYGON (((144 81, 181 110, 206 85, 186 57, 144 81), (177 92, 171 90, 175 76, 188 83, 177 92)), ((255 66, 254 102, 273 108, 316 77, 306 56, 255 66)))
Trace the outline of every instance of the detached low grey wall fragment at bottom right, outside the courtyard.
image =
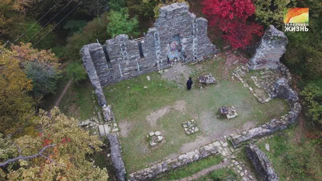
POLYGON ((279 178, 275 173, 272 163, 268 160, 267 156, 261 151, 257 145, 249 144, 246 146, 246 153, 255 167, 255 170, 263 181, 278 181, 279 178))

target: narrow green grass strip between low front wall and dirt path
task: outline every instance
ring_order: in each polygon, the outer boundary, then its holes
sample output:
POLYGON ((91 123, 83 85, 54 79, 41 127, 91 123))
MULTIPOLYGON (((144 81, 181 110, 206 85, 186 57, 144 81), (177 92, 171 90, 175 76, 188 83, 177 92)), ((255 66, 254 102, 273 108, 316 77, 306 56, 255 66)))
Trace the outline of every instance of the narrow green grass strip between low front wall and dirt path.
POLYGON ((209 156, 204 159, 192 162, 183 167, 170 170, 165 176, 156 180, 176 180, 187 176, 191 176, 194 173, 197 173, 205 168, 219 164, 222 160, 223 158, 219 155, 209 156))

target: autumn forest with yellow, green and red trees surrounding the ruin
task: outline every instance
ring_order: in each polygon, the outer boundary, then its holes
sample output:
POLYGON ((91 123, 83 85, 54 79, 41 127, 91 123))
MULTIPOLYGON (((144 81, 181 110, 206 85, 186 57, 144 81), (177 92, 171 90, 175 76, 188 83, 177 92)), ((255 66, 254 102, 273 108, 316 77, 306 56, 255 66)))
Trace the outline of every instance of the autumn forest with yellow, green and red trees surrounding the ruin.
MULTIPOLYGON (((303 106, 297 123, 302 136, 322 154, 319 0, 2 0, 1 180, 108 179, 109 168, 88 159, 102 150, 104 140, 80 129, 75 118, 55 107, 57 100, 64 88, 89 84, 79 54, 84 45, 103 44, 119 34, 143 37, 159 8, 177 2, 186 2, 197 17, 208 20, 208 36, 220 50, 230 46, 247 57, 269 25, 284 29, 284 8, 309 8, 309 31, 285 32, 288 45, 281 62, 291 71, 303 106)), ((292 173, 322 179, 322 169, 316 173, 302 159, 293 163, 292 173)))

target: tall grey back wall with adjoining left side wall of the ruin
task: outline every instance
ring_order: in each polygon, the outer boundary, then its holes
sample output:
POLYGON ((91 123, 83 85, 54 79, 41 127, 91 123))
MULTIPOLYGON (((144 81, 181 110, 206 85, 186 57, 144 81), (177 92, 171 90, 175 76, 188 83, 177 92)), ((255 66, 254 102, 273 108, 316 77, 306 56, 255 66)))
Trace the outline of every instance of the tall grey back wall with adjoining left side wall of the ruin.
MULTIPOLYGON (((104 121, 115 123, 111 106, 104 96, 104 86, 160 71, 171 67, 173 63, 200 61, 216 53, 216 46, 207 36, 207 26, 207 20, 190 13, 185 3, 175 3, 160 8, 159 18, 142 38, 129 40, 127 35, 119 35, 103 45, 85 45, 80 53, 103 109, 104 121)), ((117 127, 116 132, 111 133, 108 124, 100 126, 100 134, 107 135, 110 142, 117 180, 125 180, 117 127)))

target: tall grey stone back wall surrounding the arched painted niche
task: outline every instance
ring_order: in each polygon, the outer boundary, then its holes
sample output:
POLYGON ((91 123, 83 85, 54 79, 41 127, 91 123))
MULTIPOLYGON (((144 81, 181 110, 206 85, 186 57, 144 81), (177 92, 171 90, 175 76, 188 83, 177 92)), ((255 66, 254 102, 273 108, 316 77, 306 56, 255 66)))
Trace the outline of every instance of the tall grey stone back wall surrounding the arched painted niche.
POLYGON ((182 61, 185 63, 216 53, 216 47, 207 36, 207 20, 196 18, 185 3, 162 7, 159 12, 153 28, 140 41, 119 35, 107 40, 105 45, 93 43, 84 46, 90 51, 90 56, 84 57, 85 48, 81 50, 85 67, 88 72, 94 71, 93 66, 87 65, 88 59, 92 59, 102 86, 170 67, 168 53, 174 36, 180 37, 182 61))

